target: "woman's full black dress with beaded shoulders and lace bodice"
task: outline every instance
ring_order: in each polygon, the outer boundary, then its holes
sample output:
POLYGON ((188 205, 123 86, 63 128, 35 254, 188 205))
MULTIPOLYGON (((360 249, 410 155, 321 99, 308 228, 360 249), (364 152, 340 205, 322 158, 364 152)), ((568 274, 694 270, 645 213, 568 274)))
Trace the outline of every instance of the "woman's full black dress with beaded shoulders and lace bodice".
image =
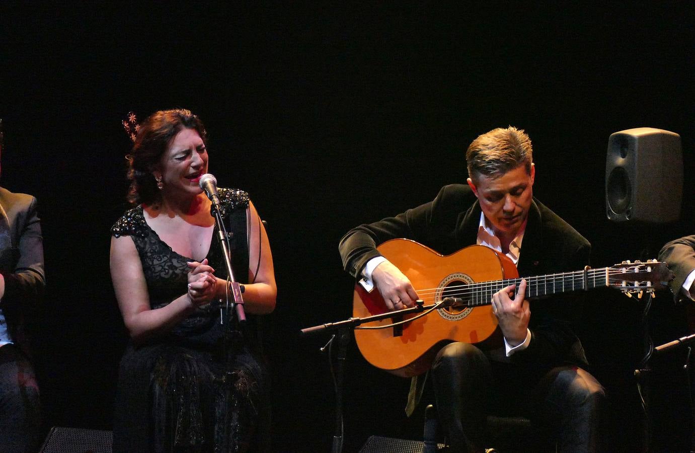
MULTIPOLYGON (((231 233, 234 277, 245 283, 248 196, 240 190, 218 192, 231 233)), ((127 211, 111 233, 133 238, 152 308, 186 293, 186 263, 193 260, 173 252, 149 228, 142 207, 127 211)), ((216 231, 207 258, 215 275, 226 278, 216 231)), ((128 346, 119 370, 114 452, 268 450, 268 379, 255 353, 255 337, 246 330, 225 336, 225 329, 220 324, 220 302, 215 301, 198 308, 165 336, 128 346)))

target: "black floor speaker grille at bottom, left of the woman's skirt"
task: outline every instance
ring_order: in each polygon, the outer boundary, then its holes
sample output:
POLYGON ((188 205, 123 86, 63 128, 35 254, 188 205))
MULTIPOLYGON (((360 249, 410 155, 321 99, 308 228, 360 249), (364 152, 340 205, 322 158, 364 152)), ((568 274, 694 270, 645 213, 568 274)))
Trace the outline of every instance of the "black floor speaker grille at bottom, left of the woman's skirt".
POLYGON ((111 453, 112 445, 111 431, 54 427, 40 453, 111 453))

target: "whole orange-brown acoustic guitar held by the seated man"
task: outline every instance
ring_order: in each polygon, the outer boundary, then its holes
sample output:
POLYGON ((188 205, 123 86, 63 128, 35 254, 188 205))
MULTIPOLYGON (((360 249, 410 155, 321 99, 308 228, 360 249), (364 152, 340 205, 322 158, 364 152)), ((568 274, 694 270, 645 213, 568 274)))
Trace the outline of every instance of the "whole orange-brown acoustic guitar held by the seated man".
MULTIPOLYGON (((436 352, 446 343, 501 345, 502 336, 492 313, 491 298, 498 290, 514 283, 518 290, 521 283, 516 266, 507 256, 482 245, 471 245, 443 256, 407 239, 389 240, 377 249, 410 279, 426 306, 447 297, 455 297, 457 303, 423 316, 407 314, 401 320, 387 319, 370 324, 384 327, 382 329, 355 329, 359 350, 369 363, 398 376, 411 377, 428 370, 436 352)), ((600 269, 587 267, 575 272, 525 277, 526 298, 604 286, 641 297, 655 288, 665 288, 671 278, 664 263, 625 261, 600 269)), ((355 285, 354 317, 364 318, 388 311, 376 288, 367 290, 361 282, 355 285)))

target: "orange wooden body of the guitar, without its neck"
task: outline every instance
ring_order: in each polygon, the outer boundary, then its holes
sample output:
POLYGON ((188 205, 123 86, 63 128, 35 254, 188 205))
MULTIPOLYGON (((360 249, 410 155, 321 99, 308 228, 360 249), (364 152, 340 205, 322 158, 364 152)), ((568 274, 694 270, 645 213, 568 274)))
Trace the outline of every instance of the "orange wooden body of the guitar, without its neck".
MULTIPOLYGON (((410 279, 425 305, 445 298, 444 290, 450 286, 518 277, 516 266, 507 256, 482 245, 472 245, 447 256, 407 239, 389 240, 377 249, 410 279)), ((387 311, 376 288, 368 292, 360 283, 355 285, 353 316, 363 318, 387 311)), ((404 319, 415 316, 407 315, 404 319)), ((382 320, 369 326, 398 320, 382 320)), ((402 377, 428 370, 446 343, 460 341, 496 347, 502 341, 490 305, 440 308, 400 327, 356 329, 354 336, 369 363, 402 377)))

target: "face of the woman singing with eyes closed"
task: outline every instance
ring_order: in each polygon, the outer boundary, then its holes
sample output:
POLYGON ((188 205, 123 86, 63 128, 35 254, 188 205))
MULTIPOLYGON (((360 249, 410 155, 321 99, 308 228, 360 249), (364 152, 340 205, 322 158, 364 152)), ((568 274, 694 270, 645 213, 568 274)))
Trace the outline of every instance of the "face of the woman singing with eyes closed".
POLYGON ((181 129, 162 156, 160 176, 162 190, 172 195, 198 195, 200 176, 208 171, 208 151, 195 129, 181 129))

